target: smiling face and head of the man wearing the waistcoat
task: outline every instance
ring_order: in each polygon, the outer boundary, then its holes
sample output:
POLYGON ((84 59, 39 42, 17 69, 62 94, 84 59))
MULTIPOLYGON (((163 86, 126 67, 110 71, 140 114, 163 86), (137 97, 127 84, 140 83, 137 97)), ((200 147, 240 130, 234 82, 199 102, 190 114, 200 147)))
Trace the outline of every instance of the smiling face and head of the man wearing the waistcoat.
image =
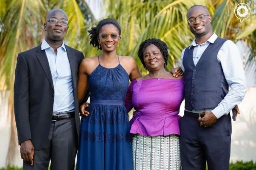
POLYGON ((205 14, 203 20, 195 20, 194 23, 188 23, 190 31, 195 35, 195 37, 203 37, 212 32, 211 24, 212 17, 209 15, 207 8, 204 6, 195 6, 189 9, 187 13, 187 18, 196 18, 199 15, 205 14), (207 16, 209 15, 209 16, 207 16))

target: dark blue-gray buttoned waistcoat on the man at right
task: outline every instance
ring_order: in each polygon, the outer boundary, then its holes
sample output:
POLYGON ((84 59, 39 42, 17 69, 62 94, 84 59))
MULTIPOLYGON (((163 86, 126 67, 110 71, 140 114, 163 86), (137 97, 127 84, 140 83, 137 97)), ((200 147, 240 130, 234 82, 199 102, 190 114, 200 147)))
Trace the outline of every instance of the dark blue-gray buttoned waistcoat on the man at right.
POLYGON ((215 108, 228 92, 217 54, 225 39, 218 37, 205 49, 197 65, 193 62, 192 46, 185 49, 183 65, 185 68, 185 109, 201 110, 215 108))

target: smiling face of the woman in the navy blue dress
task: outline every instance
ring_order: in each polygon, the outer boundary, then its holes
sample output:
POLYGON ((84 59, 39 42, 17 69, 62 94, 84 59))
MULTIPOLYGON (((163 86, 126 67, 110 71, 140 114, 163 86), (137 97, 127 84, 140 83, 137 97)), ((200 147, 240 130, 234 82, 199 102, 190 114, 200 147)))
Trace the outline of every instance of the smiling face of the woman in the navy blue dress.
POLYGON ((115 51, 116 46, 120 41, 119 31, 113 24, 106 24, 102 26, 102 28, 99 31, 99 37, 98 42, 102 47, 102 51, 115 51), (101 35, 107 34, 107 37, 103 37, 101 35), (113 38, 112 35, 118 35, 116 38, 113 38))

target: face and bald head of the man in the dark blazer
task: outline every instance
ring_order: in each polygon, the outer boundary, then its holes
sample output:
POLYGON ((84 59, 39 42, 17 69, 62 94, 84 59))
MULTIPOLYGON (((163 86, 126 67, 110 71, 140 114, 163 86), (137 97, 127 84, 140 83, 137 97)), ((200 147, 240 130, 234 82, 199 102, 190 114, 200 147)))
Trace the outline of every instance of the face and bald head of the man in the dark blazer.
POLYGON ((44 30, 46 31, 46 39, 49 41, 63 41, 68 26, 60 22, 60 20, 68 20, 67 14, 61 9, 55 9, 47 14, 47 22, 44 24, 44 30), (49 20, 55 18, 57 23, 50 23, 49 20))

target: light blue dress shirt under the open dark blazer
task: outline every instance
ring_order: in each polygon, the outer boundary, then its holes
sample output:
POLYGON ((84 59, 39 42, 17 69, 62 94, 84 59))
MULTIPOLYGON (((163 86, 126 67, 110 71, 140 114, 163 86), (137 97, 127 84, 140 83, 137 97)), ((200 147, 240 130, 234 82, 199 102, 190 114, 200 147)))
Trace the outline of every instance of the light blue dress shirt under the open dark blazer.
POLYGON ((57 54, 55 54, 53 48, 43 40, 41 50, 45 50, 52 74, 54 87, 53 113, 74 111, 75 101, 71 68, 64 43, 57 49, 57 54))

